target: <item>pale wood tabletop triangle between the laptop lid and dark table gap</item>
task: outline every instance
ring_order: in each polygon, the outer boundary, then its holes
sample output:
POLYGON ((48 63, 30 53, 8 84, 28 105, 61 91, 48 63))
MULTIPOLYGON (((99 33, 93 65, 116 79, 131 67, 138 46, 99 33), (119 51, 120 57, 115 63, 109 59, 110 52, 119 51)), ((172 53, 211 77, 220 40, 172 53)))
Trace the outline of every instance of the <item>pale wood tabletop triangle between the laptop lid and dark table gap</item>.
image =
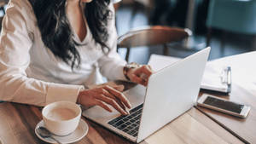
POLYGON ((195 108, 167 124, 145 141, 148 144, 242 143, 195 108))

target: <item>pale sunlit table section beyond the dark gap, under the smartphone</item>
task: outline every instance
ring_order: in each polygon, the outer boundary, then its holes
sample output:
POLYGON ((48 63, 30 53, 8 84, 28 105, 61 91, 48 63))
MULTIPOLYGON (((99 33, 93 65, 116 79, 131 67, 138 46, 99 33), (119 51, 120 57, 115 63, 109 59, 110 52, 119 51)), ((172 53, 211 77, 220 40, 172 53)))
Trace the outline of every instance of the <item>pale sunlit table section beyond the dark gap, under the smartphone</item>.
MULTIPOLYGON (((256 52, 245 53, 225 57, 210 62, 211 66, 231 66, 232 71, 232 90, 230 95, 218 95, 230 101, 240 102, 249 105, 251 111, 247 118, 236 118, 220 112, 214 112, 207 108, 201 108, 204 112, 224 126, 234 135, 237 135, 246 143, 256 143, 256 52)), ((211 94, 211 93, 210 93, 211 94)))

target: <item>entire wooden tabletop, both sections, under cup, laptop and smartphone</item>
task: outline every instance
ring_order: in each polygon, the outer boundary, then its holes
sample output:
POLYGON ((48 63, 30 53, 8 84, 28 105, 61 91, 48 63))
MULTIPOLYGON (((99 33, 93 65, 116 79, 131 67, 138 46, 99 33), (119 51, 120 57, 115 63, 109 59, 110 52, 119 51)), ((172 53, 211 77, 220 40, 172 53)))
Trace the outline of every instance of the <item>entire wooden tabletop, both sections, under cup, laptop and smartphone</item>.
MULTIPOLYGON (((212 66, 232 67, 232 93, 230 96, 219 96, 250 105, 252 110, 247 118, 235 118, 201 107, 199 111, 192 107, 142 143, 256 143, 256 77, 253 77, 256 66, 251 61, 256 61, 256 52, 212 62, 212 66)), ((3 144, 44 143, 34 133, 41 119, 40 107, 0 103, 0 140, 3 144)), ((89 124, 89 132, 81 141, 76 142, 78 144, 132 143, 98 124, 84 120, 89 124)))

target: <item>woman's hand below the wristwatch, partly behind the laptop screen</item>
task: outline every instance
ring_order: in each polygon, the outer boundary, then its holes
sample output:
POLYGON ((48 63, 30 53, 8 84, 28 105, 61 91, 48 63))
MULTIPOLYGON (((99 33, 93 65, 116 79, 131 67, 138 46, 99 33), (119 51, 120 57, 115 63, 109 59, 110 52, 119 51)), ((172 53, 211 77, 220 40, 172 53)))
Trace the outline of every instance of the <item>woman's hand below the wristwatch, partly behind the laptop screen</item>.
POLYGON ((143 65, 136 68, 130 68, 127 72, 127 77, 130 78, 131 82, 147 86, 148 78, 152 73, 151 66, 143 65))

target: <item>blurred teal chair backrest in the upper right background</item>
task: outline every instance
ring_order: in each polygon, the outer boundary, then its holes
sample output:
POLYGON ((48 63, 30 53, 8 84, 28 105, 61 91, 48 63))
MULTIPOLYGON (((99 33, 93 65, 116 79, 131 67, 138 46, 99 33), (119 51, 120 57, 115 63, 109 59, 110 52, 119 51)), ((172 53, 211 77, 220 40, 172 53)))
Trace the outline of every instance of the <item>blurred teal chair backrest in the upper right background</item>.
POLYGON ((255 0, 211 0, 207 26, 230 32, 256 34, 255 0))

